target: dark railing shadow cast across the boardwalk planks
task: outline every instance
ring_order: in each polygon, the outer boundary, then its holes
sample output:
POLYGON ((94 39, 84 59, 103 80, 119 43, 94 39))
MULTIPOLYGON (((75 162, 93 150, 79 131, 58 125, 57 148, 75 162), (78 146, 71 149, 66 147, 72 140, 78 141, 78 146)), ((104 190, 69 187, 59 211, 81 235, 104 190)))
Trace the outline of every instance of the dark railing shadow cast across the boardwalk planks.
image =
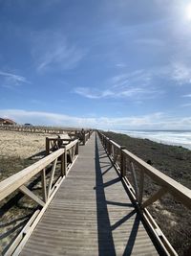
MULTIPOLYGON (((103 167, 100 166, 102 158, 105 156, 107 157, 106 153, 99 155, 99 145, 96 139, 96 211, 97 211, 97 236, 98 236, 98 255, 105 256, 105 255, 117 255, 116 248, 115 248, 115 241, 113 238, 113 231, 117 229, 119 225, 128 221, 131 217, 136 214, 135 221, 133 223, 133 227, 130 233, 129 238, 127 238, 127 244, 123 248, 123 253, 121 255, 131 255, 137 235, 138 235, 138 225, 139 225, 139 218, 136 213, 136 210, 133 210, 122 219, 118 220, 114 225, 111 225, 109 213, 108 213, 108 204, 113 204, 117 206, 127 206, 133 207, 131 203, 120 203, 114 201, 107 201, 104 189, 108 186, 112 186, 117 182, 120 182, 120 178, 117 177, 113 180, 110 180, 106 183, 103 183, 103 175, 110 172, 112 170, 112 163, 110 163, 108 159, 108 168, 106 170, 102 170, 103 167)), ((114 170, 113 170, 114 171, 114 170)), ((121 184, 122 186, 122 184, 121 184)), ((127 196, 128 197, 128 196, 127 196)))

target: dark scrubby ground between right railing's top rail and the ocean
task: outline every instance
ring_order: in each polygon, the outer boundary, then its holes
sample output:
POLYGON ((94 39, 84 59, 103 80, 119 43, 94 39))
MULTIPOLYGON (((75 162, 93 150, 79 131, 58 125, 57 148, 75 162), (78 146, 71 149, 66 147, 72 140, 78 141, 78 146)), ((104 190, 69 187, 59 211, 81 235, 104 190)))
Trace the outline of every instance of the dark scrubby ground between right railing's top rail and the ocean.
POLYGON ((135 138, 124 133, 104 131, 104 134, 125 146, 128 151, 142 160, 150 160, 152 165, 165 175, 169 175, 191 189, 191 151, 177 145, 167 145, 150 139, 135 138), (187 175, 190 175, 188 180, 187 175))

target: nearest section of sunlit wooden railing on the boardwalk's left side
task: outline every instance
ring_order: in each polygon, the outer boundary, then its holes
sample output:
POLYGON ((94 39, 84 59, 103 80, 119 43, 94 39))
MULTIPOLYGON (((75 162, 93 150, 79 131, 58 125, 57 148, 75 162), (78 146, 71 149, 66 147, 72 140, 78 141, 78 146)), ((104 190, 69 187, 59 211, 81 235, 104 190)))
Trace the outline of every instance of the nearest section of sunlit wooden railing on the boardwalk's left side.
POLYGON ((3 255, 18 255, 20 253, 32 230, 42 217, 63 179, 68 174, 77 155, 78 140, 74 140, 63 149, 54 151, 21 172, 0 182, 0 201, 18 190, 38 204, 30 221, 24 226, 3 255), (41 195, 34 194, 29 186, 32 178, 38 176, 41 176, 41 195))

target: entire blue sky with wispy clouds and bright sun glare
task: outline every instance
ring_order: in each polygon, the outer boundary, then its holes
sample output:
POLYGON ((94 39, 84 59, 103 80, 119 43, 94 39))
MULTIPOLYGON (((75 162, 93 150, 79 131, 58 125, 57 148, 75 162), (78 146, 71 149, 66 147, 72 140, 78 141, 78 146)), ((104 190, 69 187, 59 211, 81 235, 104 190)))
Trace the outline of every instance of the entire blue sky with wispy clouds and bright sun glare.
POLYGON ((191 128, 191 1, 0 0, 0 117, 191 128))

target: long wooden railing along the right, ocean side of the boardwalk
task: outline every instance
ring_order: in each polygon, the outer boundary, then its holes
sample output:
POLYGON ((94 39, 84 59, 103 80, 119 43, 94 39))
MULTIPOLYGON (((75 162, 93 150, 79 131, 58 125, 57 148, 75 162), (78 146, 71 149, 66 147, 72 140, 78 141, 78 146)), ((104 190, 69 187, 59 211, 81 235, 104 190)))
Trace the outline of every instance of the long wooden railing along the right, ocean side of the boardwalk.
POLYGON ((157 237, 158 243, 164 248, 167 255, 178 255, 160 231, 158 224, 151 217, 146 207, 153 204, 166 193, 169 193, 188 209, 191 209, 191 190, 184 187, 173 178, 159 172, 159 170, 150 166, 132 152, 127 151, 124 147, 110 140, 100 131, 98 131, 98 135, 103 147, 115 165, 118 174, 121 175, 125 186, 128 188, 130 197, 135 202, 135 205, 137 205, 138 211, 149 225, 155 237, 157 237), (131 174, 130 179, 132 180, 132 184, 129 181, 129 174, 131 174), (143 200, 144 180, 146 175, 149 176, 154 183, 159 185, 159 190, 150 198, 143 200))

